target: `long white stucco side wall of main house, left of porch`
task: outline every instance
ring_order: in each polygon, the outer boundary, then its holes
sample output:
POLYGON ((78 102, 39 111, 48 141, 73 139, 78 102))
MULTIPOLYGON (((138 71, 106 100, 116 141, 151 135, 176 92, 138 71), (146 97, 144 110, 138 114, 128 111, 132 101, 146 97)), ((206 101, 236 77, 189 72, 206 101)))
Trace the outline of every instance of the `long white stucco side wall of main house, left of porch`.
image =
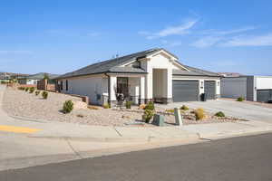
POLYGON ((107 93, 108 80, 102 75, 75 77, 63 79, 63 93, 88 96, 92 104, 102 104, 102 94, 107 93), (68 90, 66 90, 66 80, 68 80, 68 90), (98 95, 101 100, 98 100, 98 95))

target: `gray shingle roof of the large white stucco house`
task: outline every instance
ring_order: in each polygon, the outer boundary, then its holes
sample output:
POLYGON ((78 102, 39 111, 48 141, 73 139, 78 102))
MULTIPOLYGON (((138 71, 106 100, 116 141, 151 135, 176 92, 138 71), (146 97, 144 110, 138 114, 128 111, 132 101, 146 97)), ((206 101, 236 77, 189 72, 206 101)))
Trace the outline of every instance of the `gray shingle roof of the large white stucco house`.
MULTIPOLYGON (((147 51, 143 51, 143 52, 132 53, 129 55, 114 58, 114 59, 104 61, 104 62, 93 63, 93 64, 83 67, 82 69, 79 69, 77 71, 65 73, 65 74, 57 77, 57 79, 77 77, 77 76, 97 74, 97 73, 106 73, 106 72, 146 73, 146 71, 142 70, 141 68, 120 67, 120 65, 125 64, 127 62, 137 60, 139 58, 144 58, 144 57, 150 55, 151 53, 160 52, 161 50, 163 50, 163 49, 155 48, 155 49, 151 49, 151 50, 147 50, 147 51)), ((173 56, 176 57, 175 55, 173 55, 173 56)), ((180 62, 178 62, 178 63, 180 63, 180 62)), ((182 65, 182 66, 189 69, 189 71, 178 71, 178 70, 176 71, 175 70, 175 71, 173 71, 173 74, 176 74, 176 75, 183 75, 184 74, 184 75, 219 76, 219 74, 213 73, 210 71, 203 71, 203 70, 199 70, 197 68, 189 67, 186 65, 182 65)))

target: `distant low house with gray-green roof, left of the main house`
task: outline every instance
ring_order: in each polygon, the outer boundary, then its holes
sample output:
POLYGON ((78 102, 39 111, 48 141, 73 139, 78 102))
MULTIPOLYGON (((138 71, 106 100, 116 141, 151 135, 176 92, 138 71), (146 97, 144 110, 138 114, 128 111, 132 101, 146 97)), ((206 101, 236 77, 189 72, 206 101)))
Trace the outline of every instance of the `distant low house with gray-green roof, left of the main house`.
POLYGON ((37 81, 43 80, 44 76, 47 75, 49 80, 53 80, 59 75, 57 74, 51 74, 51 73, 46 73, 46 72, 40 72, 36 73, 33 75, 28 75, 28 76, 21 76, 18 78, 18 82, 20 84, 28 84, 28 85, 35 85, 37 84, 37 81))

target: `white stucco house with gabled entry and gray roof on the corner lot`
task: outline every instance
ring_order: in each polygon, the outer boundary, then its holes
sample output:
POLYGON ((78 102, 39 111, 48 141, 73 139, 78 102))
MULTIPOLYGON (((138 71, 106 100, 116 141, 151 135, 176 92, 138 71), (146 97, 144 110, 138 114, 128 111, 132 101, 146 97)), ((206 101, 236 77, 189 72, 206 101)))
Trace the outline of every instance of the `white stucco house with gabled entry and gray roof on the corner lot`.
POLYGON ((97 62, 57 80, 61 92, 88 96, 92 104, 100 105, 115 104, 119 93, 135 104, 194 101, 204 92, 214 100, 220 94, 219 74, 183 65, 164 49, 97 62))

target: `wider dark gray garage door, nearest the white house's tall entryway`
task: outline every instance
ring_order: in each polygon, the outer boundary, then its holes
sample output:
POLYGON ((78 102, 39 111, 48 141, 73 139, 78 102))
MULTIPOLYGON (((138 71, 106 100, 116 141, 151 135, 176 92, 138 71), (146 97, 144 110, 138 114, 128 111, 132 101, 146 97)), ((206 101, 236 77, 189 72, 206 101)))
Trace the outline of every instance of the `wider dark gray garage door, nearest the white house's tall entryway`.
POLYGON ((173 81, 173 101, 198 101, 199 81, 173 81))

